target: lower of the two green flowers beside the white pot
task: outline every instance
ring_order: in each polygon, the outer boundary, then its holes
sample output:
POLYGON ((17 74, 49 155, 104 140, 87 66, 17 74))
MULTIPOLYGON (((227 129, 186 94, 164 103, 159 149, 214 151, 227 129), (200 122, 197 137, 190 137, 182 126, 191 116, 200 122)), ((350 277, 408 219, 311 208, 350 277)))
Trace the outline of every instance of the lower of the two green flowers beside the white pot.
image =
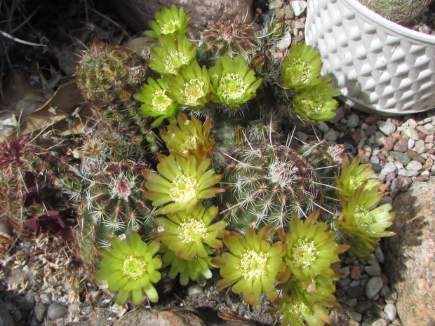
POLYGON ((300 118, 308 121, 328 121, 335 116, 333 112, 338 102, 334 96, 341 94, 340 90, 331 89, 330 76, 321 76, 319 83, 304 88, 293 100, 293 110, 300 118))

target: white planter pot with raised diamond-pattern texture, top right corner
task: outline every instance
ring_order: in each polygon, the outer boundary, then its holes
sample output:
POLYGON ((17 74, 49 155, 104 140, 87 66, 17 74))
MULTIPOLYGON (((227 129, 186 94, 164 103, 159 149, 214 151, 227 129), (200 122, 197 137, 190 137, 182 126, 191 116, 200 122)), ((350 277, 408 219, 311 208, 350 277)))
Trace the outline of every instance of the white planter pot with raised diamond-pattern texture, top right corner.
POLYGON ((393 116, 435 108, 435 36, 357 0, 308 0, 305 39, 321 53, 322 74, 356 109, 393 116))

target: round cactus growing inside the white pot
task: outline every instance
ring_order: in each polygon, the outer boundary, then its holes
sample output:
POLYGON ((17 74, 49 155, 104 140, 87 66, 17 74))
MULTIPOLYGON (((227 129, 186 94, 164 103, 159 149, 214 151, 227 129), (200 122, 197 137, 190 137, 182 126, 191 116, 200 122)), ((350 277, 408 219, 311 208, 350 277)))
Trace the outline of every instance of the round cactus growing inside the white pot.
POLYGON ((431 0, 361 0, 367 8, 399 24, 410 24, 423 15, 431 0))

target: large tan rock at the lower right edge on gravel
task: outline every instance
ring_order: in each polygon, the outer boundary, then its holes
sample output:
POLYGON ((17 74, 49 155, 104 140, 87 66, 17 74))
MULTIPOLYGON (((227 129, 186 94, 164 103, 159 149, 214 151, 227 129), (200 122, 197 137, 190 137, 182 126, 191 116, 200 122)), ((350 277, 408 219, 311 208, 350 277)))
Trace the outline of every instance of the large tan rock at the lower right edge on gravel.
POLYGON ((384 240, 384 253, 397 313, 403 326, 435 326, 435 179, 413 183, 393 206, 397 234, 384 240))

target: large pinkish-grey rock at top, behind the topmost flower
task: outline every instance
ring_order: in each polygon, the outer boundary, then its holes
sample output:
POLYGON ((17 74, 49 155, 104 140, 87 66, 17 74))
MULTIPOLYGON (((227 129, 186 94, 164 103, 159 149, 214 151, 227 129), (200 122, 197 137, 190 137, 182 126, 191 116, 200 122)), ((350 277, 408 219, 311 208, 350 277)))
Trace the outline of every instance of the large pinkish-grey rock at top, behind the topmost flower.
POLYGON ((148 22, 163 6, 183 6, 185 11, 192 11, 189 36, 193 39, 199 39, 206 27, 220 20, 251 22, 252 3, 253 0, 112 0, 116 13, 136 32, 149 29, 148 22))

